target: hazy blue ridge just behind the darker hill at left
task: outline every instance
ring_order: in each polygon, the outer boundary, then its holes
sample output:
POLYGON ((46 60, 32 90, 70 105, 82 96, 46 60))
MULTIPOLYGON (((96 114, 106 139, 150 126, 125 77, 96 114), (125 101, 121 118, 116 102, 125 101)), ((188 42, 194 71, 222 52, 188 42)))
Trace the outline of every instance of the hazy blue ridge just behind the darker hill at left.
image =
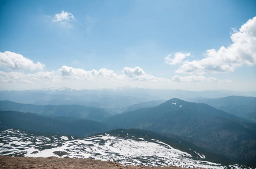
POLYGON ((76 117, 90 119, 92 121, 103 121, 103 119, 114 115, 114 112, 102 108, 85 105, 33 105, 19 104, 12 101, 0 101, 0 110, 16 111, 24 113, 36 113, 39 115, 55 117, 76 117))

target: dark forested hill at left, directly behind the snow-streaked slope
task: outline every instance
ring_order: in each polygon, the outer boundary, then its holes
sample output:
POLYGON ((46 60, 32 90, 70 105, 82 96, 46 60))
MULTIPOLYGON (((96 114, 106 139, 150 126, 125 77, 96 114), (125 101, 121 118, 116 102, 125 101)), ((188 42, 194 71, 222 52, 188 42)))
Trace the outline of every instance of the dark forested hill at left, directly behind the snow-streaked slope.
POLYGON ((27 131, 46 132, 85 137, 106 132, 106 124, 74 117, 44 117, 33 113, 0 111, 0 130, 20 128, 27 131))

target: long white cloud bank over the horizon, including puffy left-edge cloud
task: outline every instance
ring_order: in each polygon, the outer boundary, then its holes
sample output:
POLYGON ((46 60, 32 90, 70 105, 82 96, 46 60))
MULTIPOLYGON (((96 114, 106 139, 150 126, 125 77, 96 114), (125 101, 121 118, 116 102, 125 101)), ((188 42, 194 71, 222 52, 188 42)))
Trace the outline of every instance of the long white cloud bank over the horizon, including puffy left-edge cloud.
POLYGON ((14 52, 0 53, 0 66, 11 72, 0 71, 1 86, 43 86, 56 87, 59 85, 71 88, 105 88, 131 85, 142 87, 164 82, 168 85, 171 81, 165 78, 157 78, 147 74, 139 66, 135 68, 125 67, 122 74, 113 70, 101 68, 99 70, 84 70, 63 65, 56 71, 45 70, 45 65, 33 63, 22 55, 14 52), (33 70, 34 73, 25 73, 23 70, 33 70))

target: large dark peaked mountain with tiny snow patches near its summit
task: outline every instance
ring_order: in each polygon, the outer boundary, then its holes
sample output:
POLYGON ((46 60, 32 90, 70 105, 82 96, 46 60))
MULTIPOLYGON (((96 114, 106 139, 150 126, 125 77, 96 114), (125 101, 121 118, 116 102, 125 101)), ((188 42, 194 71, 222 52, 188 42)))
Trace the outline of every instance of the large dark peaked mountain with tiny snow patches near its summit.
POLYGON ((171 99, 153 108, 116 115, 105 121, 116 128, 139 128, 178 135, 231 161, 255 165, 256 126, 206 104, 171 99))

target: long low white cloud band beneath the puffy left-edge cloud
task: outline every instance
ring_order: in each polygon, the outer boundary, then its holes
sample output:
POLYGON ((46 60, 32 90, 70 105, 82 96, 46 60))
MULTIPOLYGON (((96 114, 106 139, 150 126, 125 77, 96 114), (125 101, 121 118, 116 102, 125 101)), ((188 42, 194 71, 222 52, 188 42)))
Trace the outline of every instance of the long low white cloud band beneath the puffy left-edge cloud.
POLYGON ((70 88, 114 88, 122 86, 131 87, 159 87, 169 86, 170 80, 157 78, 145 73, 141 68, 123 68, 123 74, 116 74, 113 70, 102 68, 100 70, 86 71, 69 66, 62 66, 57 71, 36 73, 1 72, 0 85, 2 88, 22 89, 59 87, 70 88), (128 76, 129 75, 129 76, 128 76))

